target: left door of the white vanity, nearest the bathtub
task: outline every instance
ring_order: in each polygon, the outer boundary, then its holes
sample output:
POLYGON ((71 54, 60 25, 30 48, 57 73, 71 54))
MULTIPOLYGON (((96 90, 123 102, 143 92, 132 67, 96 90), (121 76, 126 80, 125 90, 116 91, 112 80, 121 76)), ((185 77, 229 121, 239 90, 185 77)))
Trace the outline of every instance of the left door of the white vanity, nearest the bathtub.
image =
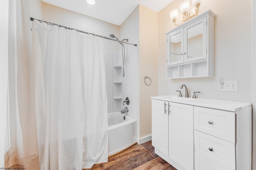
POLYGON ((168 102, 152 100, 152 146, 168 156, 168 102))

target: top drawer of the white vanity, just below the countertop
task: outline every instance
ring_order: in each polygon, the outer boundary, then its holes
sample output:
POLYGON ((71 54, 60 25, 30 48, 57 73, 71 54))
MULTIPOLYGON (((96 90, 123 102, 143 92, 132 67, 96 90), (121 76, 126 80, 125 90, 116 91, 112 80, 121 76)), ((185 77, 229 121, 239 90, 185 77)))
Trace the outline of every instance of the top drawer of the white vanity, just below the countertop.
POLYGON ((236 143, 236 113, 194 106, 194 129, 236 143))

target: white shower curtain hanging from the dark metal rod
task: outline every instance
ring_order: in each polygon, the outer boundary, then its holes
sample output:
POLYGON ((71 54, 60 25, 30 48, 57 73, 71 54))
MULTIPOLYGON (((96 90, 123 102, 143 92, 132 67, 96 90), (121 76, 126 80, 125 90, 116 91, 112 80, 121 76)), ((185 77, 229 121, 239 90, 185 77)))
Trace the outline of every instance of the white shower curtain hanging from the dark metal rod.
POLYGON ((32 23, 40 169, 91 168, 108 161, 103 41, 32 23))

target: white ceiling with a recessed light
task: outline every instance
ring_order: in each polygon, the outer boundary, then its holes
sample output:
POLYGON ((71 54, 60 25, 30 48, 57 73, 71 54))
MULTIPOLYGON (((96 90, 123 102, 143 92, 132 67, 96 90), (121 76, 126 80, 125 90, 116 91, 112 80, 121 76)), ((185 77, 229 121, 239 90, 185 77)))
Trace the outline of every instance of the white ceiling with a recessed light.
POLYGON ((95 0, 94 5, 88 4, 86 0, 42 0, 42 2, 121 25, 138 4, 159 12, 172 0, 95 0))

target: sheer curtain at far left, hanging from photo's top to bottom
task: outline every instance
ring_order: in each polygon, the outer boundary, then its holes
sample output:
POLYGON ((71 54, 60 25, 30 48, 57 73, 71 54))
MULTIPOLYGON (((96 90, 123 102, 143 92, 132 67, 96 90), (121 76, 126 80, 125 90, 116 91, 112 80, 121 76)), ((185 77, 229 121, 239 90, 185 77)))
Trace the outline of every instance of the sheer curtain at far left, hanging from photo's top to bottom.
POLYGON ((4 155, 4 167, 38 170, 34 66, 31 55, 31 23, 28 20, 29 0, 9 0, 8 3, 9 15, 5 17, 8 17, 6 43, 10 131, 7 133, 10 141, 5 144, 8 151, 4 155))

